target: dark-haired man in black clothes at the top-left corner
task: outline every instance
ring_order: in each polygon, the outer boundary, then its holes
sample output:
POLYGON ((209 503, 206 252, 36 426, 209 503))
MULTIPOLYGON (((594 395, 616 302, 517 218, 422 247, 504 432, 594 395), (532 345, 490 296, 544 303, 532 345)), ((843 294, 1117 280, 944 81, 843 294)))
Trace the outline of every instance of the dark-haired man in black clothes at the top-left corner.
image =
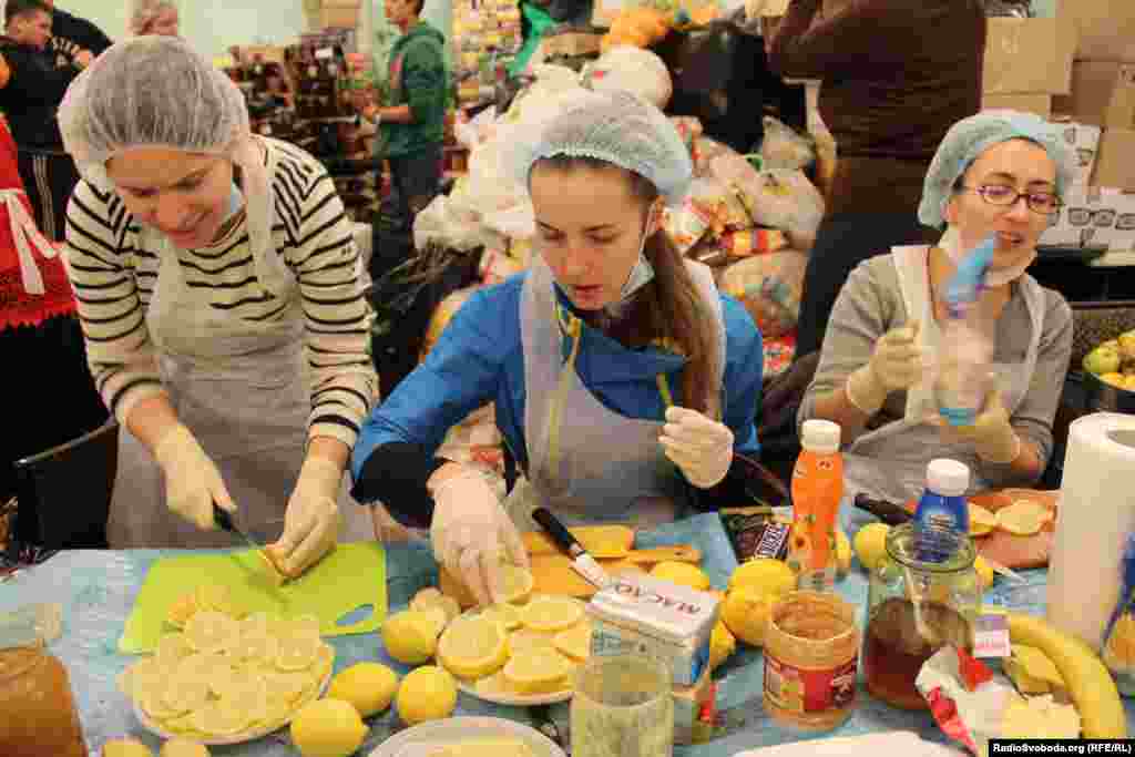
POLYGON ((42 0, 8 0, 0 54, 9 69, 0 89, 0 108, 19 148, 19 175, 24 179, 35 222, 50 239, 62 241, 64 215, 78 182, 75 161, 64 151, 56 119, 59 102, 92 54, 81 51, 73 59, 49 50, 51 8, 42 0))

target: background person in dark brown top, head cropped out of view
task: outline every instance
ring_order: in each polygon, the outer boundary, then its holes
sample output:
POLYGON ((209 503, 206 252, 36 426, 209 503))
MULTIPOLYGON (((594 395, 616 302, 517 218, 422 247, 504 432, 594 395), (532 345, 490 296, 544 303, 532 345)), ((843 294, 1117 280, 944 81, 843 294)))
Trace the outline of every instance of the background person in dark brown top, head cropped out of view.
POLYGON ((947 129, 981 109, 983 5, 791 0, 770 37, 772 70, 822 81, 819 113, 839 155, 805 272, 798 360, 819 350, 851 269, 933 241, 916 215, 923 177, 947 129))

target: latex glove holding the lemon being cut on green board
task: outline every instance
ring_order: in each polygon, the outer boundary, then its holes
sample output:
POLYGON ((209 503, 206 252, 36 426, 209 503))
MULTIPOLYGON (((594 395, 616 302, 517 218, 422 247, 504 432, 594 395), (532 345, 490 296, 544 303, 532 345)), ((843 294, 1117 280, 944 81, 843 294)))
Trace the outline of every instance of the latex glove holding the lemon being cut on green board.
POLYGON ((289 578, 300 575, 335 547, 343 469, 325 457, 308 457, 284 513, 284 535, 275 557, 289 578))

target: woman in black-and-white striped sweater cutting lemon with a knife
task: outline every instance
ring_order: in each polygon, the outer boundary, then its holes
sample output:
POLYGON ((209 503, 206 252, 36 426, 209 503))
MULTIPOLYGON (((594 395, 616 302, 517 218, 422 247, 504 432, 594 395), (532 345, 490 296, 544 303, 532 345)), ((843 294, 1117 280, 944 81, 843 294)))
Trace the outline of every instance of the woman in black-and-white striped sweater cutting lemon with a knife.
POLYGON ((281 566, 306 570, 336 542, 344 466, 378 395, 333 183, 252 135, 241 92, 175 37, 112 47, 59 120, 84 178, 68 275, 124 427, 111 546, 232 544, 219 505, 261 538, 283 525, 281 566))

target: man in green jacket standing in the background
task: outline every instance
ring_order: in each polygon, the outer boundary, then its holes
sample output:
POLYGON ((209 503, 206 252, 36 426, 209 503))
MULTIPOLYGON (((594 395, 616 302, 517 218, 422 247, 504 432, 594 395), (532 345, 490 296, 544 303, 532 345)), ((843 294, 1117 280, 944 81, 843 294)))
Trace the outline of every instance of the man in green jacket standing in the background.
POLYGON ((426 0, 386 0, 386 17, 402 31, 390 50, 388 96, 362 116, 379 125, 390 162, 386 213, 394 228, 409 230, 442 180, 446 91, 445 37, 421 18, 426 0))

